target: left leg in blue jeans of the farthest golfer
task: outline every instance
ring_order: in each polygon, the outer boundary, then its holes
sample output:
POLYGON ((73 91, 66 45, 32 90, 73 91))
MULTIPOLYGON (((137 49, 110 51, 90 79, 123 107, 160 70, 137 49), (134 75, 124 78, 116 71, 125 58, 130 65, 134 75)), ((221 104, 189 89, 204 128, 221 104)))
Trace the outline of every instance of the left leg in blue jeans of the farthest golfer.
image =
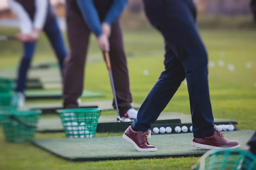
POLYGON ((26 78, 30 67, 32 57, 34 55, 36 42, 24 42, 23 43, 23 56, 20 61, 17 77, 17 88, 16 91, 24 93, 26 88, 26 78))

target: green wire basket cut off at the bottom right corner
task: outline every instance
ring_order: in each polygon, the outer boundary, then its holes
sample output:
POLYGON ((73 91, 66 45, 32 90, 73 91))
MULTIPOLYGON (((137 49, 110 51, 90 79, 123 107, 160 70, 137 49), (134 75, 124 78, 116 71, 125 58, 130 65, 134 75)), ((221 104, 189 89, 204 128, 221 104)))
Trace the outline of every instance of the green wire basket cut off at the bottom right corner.
POLYGON ((192 170, 256 170, 256 156, 240 149, 209 150, 192 170))

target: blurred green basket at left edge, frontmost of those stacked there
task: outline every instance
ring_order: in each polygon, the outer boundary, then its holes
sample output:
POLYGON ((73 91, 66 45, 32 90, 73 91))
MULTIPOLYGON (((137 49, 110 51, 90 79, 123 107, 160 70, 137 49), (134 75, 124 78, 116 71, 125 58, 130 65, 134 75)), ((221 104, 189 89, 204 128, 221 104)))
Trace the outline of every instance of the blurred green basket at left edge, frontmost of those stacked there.
POLYGON ((34 139, 39 110, 0 111, 0 124, 7 142, 30 142, 34 139))

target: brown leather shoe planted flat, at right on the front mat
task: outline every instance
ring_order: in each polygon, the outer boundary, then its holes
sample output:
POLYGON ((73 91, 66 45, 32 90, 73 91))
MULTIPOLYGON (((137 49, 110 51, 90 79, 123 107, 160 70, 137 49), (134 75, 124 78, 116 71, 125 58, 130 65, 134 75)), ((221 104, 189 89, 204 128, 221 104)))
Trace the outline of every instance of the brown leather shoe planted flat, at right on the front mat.
POLYGON ((212 136, 204 138, 193 138, 192 145, 202 149, 219 149, 219 148, 239 148, 240 144, 237 141, 231 141, 224 138, 223 133, 218 131, 212 136))

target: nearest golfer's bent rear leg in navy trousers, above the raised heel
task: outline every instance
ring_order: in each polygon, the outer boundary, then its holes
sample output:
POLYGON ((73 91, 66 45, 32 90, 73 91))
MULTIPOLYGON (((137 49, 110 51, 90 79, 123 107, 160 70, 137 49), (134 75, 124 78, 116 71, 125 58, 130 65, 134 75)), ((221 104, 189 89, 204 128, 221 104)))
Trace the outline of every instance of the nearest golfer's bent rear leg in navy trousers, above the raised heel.
POLYGON ((132 127, 135 131, 146 131, 157 120, 185 78, 184 68, 177 57, 175 46, 166 42, 165 71, 141 105, 132 127))

